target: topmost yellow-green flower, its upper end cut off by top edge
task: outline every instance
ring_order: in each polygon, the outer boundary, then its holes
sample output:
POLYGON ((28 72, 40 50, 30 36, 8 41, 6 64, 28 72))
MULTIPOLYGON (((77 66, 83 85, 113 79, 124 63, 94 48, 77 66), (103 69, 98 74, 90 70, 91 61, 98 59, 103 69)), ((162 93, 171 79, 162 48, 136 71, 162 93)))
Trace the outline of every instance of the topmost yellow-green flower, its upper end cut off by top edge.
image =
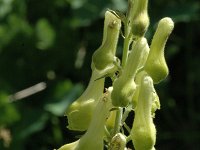
POLYGON ((148 0, 134 0, 132 12, 132 33, 134 36, 142 37, 149 26, 147 13, 148 0))

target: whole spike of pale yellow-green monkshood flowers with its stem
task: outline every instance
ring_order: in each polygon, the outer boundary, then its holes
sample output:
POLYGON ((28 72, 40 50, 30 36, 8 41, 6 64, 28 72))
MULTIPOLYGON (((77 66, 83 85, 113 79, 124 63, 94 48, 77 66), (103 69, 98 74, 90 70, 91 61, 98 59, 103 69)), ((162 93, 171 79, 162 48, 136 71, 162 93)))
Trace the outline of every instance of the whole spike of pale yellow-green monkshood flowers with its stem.
POLYGON ((160 102, 154 84, 169 72, 164 48, 174 23, 168 17, 161 19, 149 46, 145 38, 147 8, 148 0, 129 0, 126 15, 106 11, 103 40, 92 56, 89 85, 66 111, 68 128, 86 132, 59 150, 126 150, 130 140, 136 150, 155 149, 153 118, 160 102), (124 38, 122 60, 116 56, 120 31, 124 38), (107 77, 112 86, 105 88, 107 77), (135 113, 131 128, 125 124, 130 111, 135 113), (124 128, 129 135, 123 134, 124 128))

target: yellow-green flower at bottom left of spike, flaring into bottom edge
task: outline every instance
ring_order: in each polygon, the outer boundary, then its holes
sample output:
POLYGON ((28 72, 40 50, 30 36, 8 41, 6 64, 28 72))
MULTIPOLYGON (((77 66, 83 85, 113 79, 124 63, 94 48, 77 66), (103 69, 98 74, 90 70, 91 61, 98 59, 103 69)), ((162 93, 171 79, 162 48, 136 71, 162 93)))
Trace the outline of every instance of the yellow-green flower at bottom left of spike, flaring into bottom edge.
POLYGON ((109 115, 112 87, 108 88, 95 107, 87 132, 77 141, 62 146, 59 150, 103 150, 104 126, 109 115))

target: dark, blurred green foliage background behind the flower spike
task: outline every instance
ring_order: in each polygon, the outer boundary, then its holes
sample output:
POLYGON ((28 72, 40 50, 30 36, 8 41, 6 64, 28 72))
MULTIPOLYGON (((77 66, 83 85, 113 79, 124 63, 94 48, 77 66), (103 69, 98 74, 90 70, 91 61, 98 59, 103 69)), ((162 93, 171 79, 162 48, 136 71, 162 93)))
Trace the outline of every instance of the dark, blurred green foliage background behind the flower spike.
MULTIPOLYGON (((125 12, 127 0, 0 0, 0 149, 51 150, 77 139, 64 112, 88 84, 108 8, 125 12)), ((150 0, 149 15, 149 42, 162 17, 175 22, 170 74, 156 85, 156 148, 198 150, 200 1, 150 0)))

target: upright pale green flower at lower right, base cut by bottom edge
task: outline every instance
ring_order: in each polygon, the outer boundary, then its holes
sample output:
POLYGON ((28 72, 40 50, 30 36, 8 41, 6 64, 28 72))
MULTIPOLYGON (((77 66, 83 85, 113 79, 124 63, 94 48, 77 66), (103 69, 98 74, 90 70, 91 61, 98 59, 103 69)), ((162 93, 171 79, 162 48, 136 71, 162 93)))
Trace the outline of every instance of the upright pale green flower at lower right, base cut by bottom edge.
POLYGON ((131 137, 135 150, 151 150, 156 141, 156 129, 151 116, 153 101, 153 81, 144 76, 141 81, 131 137))

